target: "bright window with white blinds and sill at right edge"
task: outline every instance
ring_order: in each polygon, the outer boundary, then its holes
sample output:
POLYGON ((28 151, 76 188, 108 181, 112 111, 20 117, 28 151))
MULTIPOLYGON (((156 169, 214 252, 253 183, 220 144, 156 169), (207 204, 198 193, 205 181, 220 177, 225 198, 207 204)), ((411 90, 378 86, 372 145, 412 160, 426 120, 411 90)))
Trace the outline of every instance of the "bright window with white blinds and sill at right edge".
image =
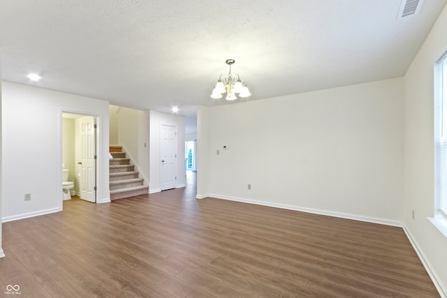
POLYGON ((447 237, 447 52, 434 64, 434 218, 447 237))

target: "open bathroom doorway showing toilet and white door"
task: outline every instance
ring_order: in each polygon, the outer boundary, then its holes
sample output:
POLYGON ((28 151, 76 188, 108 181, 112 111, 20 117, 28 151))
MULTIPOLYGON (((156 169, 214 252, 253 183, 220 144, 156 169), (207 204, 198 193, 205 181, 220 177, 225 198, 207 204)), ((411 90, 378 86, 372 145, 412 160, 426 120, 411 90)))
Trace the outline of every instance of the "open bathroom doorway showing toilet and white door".
POLYGON ((62 200, 96 202, 96 117, 62 113, 62 200))

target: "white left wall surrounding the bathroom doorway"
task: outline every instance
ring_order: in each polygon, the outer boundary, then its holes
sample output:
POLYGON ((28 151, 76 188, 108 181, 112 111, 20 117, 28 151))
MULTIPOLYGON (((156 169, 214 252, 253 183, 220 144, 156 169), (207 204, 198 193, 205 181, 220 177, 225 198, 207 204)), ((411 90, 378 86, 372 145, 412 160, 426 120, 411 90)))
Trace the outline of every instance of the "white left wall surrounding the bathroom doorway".
POLYGON ((62 112, 98 117, 97 201, 110 201, 108 103, 11 82, 2 91, 3 221, 61 210, 62 112))

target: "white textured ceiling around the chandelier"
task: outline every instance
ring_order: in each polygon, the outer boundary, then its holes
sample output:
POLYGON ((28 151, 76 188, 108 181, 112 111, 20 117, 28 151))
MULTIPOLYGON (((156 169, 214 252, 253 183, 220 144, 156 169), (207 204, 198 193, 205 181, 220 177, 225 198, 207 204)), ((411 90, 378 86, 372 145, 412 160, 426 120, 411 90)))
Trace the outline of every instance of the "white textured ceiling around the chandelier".
POLYGON ((226 59, 243 100, 402 76, 446 1, 400 18, 401 0, 1 0, 2 77, 193 117, 225 103, 226 59))

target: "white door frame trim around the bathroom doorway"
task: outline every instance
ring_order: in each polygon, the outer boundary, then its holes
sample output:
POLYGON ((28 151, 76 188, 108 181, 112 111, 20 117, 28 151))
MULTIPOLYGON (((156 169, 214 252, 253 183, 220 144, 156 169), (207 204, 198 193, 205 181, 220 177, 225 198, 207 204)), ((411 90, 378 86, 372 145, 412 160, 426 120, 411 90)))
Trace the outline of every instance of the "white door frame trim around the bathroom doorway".
MULTIPOLYGON (((100 200, 98 200, 98 189, 101 188, 100 186, 100 182, 101 182, 101 177, 102 175, 99 174, 101 172, 100 170, 100 161, 102 158, 101 155, 101 148, 102 148, 102 144, 100 142, 100 124, 101 124, 101 115, 100 114, 94 114, 94 113, 89 113, 87 111, 83 111, 83 110, 73 110, 73 109, 68 109, 68 108, 61 108, 59 110, 59 142, 57 144, 58 148, 58 177, 59 177, 59 181, 57 181, 57 184, 59 184, 60 188, 62 188, 62 157, 63 157, 63 153, 62 153, 62 142, 64 142, 63 139, 63 134, 64 134, 64 129, 63 129, 63 114, 64 113, 70 113, 70 114, 79 114, 82 116, 90 116, 90 117, 94 117, 95 118, 95 123, 96 123, 96 130, 95 130, 95 154, 96 154, 96 161, 95 161, 95 184, 96 184, 96 195, 95 195, 95 203, 98 204, 100 202, 100 200)), ((62 190, 62 189, 61 189, 62 190)), ((64 204, 63 204, 64 200, 62 200, 62 195, 59 195, 59 197, 57 198, 57 204, 59 207, 59 211, 63 210, 64 204)))

